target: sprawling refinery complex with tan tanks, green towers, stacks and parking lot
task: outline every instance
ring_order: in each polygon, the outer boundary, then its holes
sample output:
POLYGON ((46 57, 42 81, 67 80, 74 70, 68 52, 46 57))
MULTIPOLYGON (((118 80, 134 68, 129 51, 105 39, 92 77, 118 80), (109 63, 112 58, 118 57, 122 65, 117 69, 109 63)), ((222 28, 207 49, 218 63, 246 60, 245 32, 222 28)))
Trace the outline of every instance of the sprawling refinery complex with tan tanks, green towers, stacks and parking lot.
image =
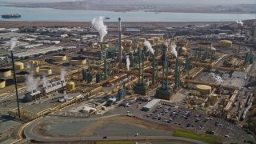
POLYGON ((13 120, 0 142, 144 142, 179 129, 255 142, 242 130, 255 105, 255 21, 103 21, 0 27, 0 114, 13 120))

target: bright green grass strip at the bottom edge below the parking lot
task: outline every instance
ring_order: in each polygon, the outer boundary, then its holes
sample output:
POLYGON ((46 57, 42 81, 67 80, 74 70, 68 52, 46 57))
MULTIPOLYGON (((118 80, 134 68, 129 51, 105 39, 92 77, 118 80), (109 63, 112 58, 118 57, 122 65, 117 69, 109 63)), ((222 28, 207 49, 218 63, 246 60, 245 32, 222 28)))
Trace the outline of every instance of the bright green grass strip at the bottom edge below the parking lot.
POLYGON ((173 135, 176 137, 192 138, 210 144, 217 144, 221 140, 219 137, 214 135, 199 135, 186 130, 175 130, 173 135))

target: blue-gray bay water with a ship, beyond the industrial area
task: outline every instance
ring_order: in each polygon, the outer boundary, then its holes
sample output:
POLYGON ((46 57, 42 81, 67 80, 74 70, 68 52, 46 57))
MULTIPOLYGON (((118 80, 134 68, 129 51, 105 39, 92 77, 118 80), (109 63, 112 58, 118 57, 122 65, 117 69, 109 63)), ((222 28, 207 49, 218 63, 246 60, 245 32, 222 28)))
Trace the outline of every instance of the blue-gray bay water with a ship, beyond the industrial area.
MULTIPOLYGON (((91 22, 98 16, 110 17, 109 22, 222 22, 256 19, 256 14, 198 14, 198 13, 154 13, 145 11, 114 12, 104 10, 58 10, 51 8, 25 8, 0 6, 0 14, 21 14, 13 21, 91 22)), ((3 19, 1 21, 10 21, 3 19)))

